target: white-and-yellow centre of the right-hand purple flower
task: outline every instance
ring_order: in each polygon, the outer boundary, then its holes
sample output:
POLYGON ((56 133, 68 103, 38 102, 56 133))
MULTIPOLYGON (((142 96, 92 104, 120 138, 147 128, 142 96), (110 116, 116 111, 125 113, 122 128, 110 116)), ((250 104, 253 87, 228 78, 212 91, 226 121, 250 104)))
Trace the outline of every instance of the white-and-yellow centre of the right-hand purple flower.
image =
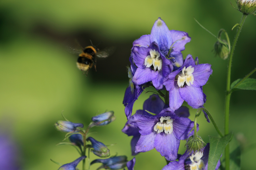
POLYGON ((193 84, 194 81, 194 76, 193 73, 194 72, 194 67, 189 66, 189 67, 183 67, 182 72, 179 73, 178 76, 178 81, 177 84, 179 87, 184 86, 184 83, 186 82, 187 86, 190 86, 190 84, 193 84))

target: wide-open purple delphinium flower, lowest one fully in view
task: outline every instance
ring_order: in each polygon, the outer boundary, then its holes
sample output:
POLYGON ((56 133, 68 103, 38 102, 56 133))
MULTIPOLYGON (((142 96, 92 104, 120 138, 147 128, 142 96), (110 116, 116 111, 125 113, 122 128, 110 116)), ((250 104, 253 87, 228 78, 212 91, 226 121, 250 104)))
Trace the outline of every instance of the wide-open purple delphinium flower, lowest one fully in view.
MULTIPOLYGON (((189 133, 194 122, 189 118, 177 116, 170 108, 155 116, 134 114, 129 123, 139 128, 141 134, 135 146, 135 153, 156 148, 169 161, 176 160, 180 140, 185 140, 194 133, 189 133)), ((198 129, 197 125, 197 131, 198 129)))

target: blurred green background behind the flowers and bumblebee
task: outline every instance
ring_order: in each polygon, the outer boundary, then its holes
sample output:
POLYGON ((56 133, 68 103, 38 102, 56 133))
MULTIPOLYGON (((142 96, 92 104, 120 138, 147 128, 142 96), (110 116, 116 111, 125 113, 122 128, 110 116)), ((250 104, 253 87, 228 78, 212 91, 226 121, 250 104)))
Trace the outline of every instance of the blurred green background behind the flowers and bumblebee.
MULTIPOLYGON (((231 1, 235 6, 235 0, 231 1)), ((131 137, 121 132, 126 120, 123 95, 128 86, 132 42, 150 34, 152 25, 161 17, 169 29, 185 31, 191 37, 187 54, 199 57, 199 63, 210 63, 213 74, 204 86, 204 105, 219 128, 224 129, 224 98, 227 61, 214 57, 216 39, 193 19, 215 35, 219 29, 228 32, 231 43, 242 14, 230 1, 15 1, 0 2, 0 122, 1 131, 8 131, 19 147, 19 161, 24 170, 58 169, 50 158, 69 163, 79 157, 71 146, 55 146, 65 133, 54 129, 61 112, 72 122, 88 125, 92 116, 113 110, 116 120, 105 127, 93 128, 91 136, 111 146, 110 153, 133 157, 131 137), (77 56, 64 46, 67 39, 77 39, 81 46, 117 46, 113 56, 98 59, 97 72, 85 76, 76 67, 77 56)), ((248 16, 243 25, 232 63, 233 82, 255 68, 256 20, 248 16)), ((255 75, 251 76, 255 78, 255 75)), ((240 137, 242 169, 255 167, 255 91, 232 94, 230 130, 240 137)), ((133 113, 142 109, 150 93, 135 102, 133 113)), ((186 103, 184 103, 186 105, 186 103)), ((190 108, 193 120, 196 109, 190 108)), ((199 117, 199 135, 207 143, 209 135, 218 136, 204 116, 199 117)), ((182 141, 179 153, 183 154, 182 141)), ((91 160, 96 156, 91 154, 91 160)), ((135 169, 162 169, 164 158, 156 150, 136 156, 135 169)), ((81 165, 78 167, 80 168, 81 165)), ((93 165, 96 169, 100 165, 93 165)))

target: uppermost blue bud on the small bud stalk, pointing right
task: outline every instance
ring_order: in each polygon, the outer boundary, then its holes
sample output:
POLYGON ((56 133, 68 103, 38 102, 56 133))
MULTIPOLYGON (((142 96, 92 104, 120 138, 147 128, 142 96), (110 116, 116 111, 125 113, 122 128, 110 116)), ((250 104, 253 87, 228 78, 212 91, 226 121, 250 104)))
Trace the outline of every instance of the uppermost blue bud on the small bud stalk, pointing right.
POLYGON ((109 111, 92 117, 95 126, 104 126, 115 120, 114 112, 109 111))

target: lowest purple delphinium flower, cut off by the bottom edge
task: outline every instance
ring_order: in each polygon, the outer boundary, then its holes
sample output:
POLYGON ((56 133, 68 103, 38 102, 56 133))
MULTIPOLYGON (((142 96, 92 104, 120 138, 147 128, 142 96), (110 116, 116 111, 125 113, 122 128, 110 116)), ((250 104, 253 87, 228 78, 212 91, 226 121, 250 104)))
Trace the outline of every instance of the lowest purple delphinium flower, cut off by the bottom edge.
MULTIPOLYGON (((170 162, 164 166, 162 170, 207 170, 208 167, 208 156, 209 156, 210 144, 204 147, 203 152, 190 153, 186 151, 179 161, 170 162)), ((219 169, 220 160, 217 163, 215 170, 219 169)))

